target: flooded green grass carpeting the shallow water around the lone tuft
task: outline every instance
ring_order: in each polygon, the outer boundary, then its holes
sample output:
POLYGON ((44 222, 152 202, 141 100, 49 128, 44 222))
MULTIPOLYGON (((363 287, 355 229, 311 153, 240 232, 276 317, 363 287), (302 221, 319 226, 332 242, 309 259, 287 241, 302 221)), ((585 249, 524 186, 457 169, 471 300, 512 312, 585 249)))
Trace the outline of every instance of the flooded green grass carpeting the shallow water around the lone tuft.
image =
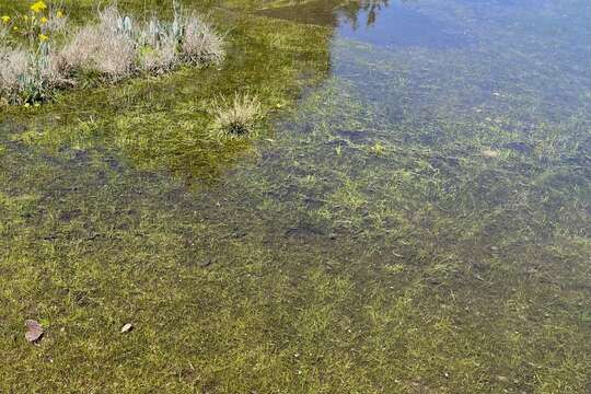
POLYGON ((0 392, 589 392, 588 4, 418 4, 479 45, 228 2, 220 70, 5 109, 0 392), (236 91, 256 140, 211 134, 236 91))

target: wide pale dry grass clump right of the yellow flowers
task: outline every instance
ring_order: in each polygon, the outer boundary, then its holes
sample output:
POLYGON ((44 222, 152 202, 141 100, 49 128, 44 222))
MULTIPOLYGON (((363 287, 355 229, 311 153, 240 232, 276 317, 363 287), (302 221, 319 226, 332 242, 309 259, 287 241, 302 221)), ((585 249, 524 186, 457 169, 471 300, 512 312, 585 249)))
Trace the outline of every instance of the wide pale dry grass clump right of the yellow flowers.
POLYGON ((181 62, 201 66, 223 60, 223 38, 195 14, 177 15, 177 31, 155 18, 142 26, 129 20, 132 27, 125 30, 125 18, 113 5, 99 16, 97 24, 81 28, 61 51, 68 68, 119 80, 139 70, 164 73, 181 62))

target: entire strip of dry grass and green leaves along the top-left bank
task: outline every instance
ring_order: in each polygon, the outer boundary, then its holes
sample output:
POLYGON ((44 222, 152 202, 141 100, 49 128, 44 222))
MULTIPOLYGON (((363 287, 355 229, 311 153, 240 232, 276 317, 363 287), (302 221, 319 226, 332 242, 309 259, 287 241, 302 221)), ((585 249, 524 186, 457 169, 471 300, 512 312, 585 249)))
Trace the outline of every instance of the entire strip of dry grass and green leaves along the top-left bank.
MULTIPOLYGON (((35 34, 26 34, 27 46, 15 36, 11 46, 0 47, 0 94, 4 102, 44 101, 55 90, 74 85, 89 74, 117 82, 141 72, 165 73, 181 65, 220 63, 224 58, 223 38, 196 14, 176 8, 171 22, 153 16, 138 24, 111 5, 97 12, 97 22, 79 30, 66 26, 66 22, 53 23, 61 21, 58 13, 62 15, 56 11, 55 15, 37 16, 45 22, 28 28, 35 34), (55 39, 45 25, 57 26, 61 37, 56 34, 55 39), (59 46, 58 42, 66 44, 59 46)), ((2 35, 9 36, 10 20, 5 20, 2 35)), ((12 27, 16 35, 18 26, 12 27)))

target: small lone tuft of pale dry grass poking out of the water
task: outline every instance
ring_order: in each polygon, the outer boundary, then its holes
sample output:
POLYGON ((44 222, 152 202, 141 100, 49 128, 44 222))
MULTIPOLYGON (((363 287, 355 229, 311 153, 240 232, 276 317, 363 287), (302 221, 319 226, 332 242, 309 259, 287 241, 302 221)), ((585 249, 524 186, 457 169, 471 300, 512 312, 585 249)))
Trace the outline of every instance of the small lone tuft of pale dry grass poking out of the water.
POLYGON ((215 129, 229 137, 255 135, 262 117, 260 101, 250 93, 235 93, 232 100, 218 99, 213 109, 215 129))

